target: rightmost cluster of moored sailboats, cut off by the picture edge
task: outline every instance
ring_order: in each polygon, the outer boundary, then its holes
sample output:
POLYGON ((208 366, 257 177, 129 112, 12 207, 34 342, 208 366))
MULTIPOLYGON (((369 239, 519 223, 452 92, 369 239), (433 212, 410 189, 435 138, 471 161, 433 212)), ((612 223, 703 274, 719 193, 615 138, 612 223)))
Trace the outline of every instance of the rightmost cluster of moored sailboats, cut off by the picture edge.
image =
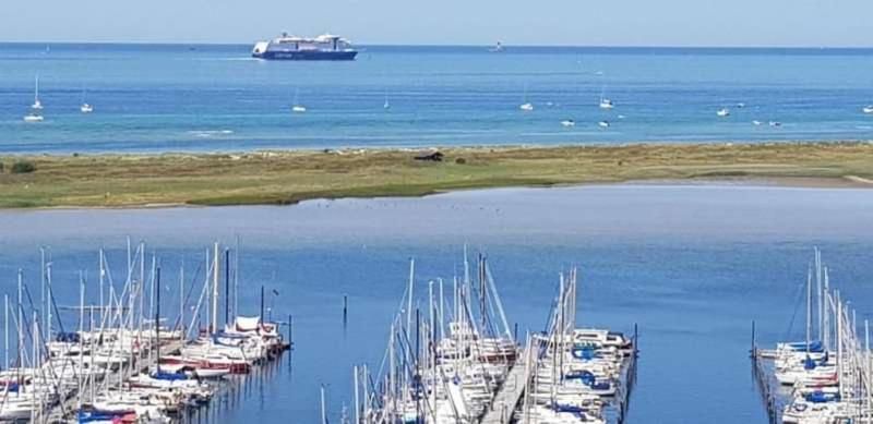
POLYGON ((828 269, 816 249, 804 287, 805 340, 761 349, 753 332, 753 375, 770 423, 873 422, 870 323, 858 322, 828 269))

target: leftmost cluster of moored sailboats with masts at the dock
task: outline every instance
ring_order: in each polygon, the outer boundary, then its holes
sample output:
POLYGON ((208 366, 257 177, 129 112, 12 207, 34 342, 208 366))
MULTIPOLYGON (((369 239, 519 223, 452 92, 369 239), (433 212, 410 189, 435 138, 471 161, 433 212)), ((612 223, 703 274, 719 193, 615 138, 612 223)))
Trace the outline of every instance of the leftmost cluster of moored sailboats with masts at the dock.
MULTIPOLYGON (((231 286, 236 289, 236 284, 230 278, 230 250, 224 252, 224 263, 218 243, 212 256, 207 252, 198 269, 203 275, 192 276, 189 286, 194 292, 188 296, 184 268, 179 269, 175 294, 186 302, 180 302, 175 324, 167 326, 166 316, 175 315, 166 310, 162 315, 160 298, 168 286, 162 286, 155 254, 146 267, 145 243, 134 249, 129 239, 123 283, 113 280, 109 259, 100 250, 99 304, 85 303, 87 283, 80 274, 80 303, 69 307, 59 306, 62 300, 55 296, 52 288, 59 282, 52 281, 52 262, 46 262, 44 251, 39 304, 33 303, 37 284, 26 284, 23 270, 17 272, 17 300, 4 298, 0 421, 183 422, 226 386, 238 384, 237 376, 277 360, 290 348, 279 334, 279 323, 267 322, 263 306, 255 316, 230 313, 231 286), (189 307, 190 322, 186 322, 189 307), (74 328, 63 326, 62 317, 70 316, 65 310, 77 314, 74 328), (13 358, 11 332, 17 336, 13 358)), ((236 305, 234 311, 238 311, 236 305)), ((290 326, 290 318, 284 324, 290 326)))

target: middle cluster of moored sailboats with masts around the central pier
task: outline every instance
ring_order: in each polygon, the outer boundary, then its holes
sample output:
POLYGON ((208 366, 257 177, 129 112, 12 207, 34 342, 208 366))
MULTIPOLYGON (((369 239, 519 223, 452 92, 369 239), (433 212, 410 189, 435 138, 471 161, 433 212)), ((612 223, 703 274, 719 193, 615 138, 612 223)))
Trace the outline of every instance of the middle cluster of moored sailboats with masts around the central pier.
POLYGON ((465 249, 464 272, 452 280, 451 301, 438 279, 428 282, 421 302, 410 264, 382 364, 354 370, 355 422, 623 423, 636 373, 636 329, 627 338, 577 328, 573 269, 560 276, 547 330, 528 330, 518 340, 485 256, 479 255, 475 271, 474 278, 465 249), (428 305, 423 319, 420 307, 412 314, 414 300, 428 305), (371 376, 368 370, 379 373, 371 376))

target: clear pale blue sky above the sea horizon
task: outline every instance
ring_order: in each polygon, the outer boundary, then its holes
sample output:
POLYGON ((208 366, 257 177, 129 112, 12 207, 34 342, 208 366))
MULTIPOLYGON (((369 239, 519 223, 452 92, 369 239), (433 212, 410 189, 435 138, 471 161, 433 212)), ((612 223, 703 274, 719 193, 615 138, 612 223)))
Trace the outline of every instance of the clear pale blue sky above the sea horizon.
POLYGON ((873 0, 0 0, 0 41, 873 47, 873 0))

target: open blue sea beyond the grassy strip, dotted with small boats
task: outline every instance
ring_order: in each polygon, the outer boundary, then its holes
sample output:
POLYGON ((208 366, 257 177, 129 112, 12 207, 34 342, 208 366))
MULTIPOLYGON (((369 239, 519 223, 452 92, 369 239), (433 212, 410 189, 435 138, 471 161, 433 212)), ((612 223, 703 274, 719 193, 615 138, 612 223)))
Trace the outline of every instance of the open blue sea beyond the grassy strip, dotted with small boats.
POLYGON ((0 44, 0 152, 873 138, 870 49, 373 46, 325 63, 250 48, 0 44), (27 124, 37 74, 46 121, 27 124))

